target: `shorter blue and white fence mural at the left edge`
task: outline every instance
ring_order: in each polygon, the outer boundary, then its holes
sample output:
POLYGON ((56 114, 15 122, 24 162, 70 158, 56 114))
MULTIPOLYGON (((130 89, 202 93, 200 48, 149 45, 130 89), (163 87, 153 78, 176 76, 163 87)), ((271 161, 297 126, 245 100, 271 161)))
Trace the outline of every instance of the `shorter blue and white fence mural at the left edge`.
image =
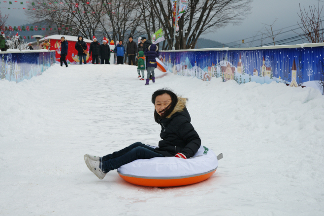
POLYGON ((38 76, 55 63, 55 52, 0 53, 0 79, 16 83, 38 76))

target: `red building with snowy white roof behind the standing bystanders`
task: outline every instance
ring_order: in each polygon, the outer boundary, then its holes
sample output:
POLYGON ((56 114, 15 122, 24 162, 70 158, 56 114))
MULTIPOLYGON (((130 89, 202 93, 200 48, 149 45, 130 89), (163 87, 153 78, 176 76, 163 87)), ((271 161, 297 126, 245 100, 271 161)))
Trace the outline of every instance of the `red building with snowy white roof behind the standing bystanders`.
MULTIPOLYGON (((78 51, 75 49, 75 44, 78 42, 77 36, 70 36, 70 35, 62 35, 62 34, 54 34, 47 36, 47 38, 50 41, 51 48, 50 50, 55 50, 55 60, 56 63, 60 63, 61 58, 61 37, 65 37, 65 40, 67 40, 68 43, 68 49, 67 49, 67 55, 66 55, 66 62, 68 64, 79 64, 79 57, 78 57, 78 51)), ((44 41, 44 38, 39 40, 39 44, 41 44, 44 41)), ((92 57, 89 56, 89 49, 90 44, 93 42, 92 40, 83 38, 83 41, 87 44, 87 63, 92 62, 92 57)), ((35 42, 32 42, 34 44, 35 42)))

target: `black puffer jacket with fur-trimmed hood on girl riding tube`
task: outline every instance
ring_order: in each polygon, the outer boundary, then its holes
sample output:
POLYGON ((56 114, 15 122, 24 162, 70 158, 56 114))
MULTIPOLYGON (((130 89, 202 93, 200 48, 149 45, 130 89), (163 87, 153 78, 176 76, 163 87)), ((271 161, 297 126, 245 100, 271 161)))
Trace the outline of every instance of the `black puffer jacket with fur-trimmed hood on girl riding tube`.
POLYGON ((162 127, 159 148, 154 151, 164 156, 175 156, 178 153, 190 158, 196 154, 201 145, 199 135, 190 123, 191 118, 186 108, 186 99, 178 97, 178 103, 172 113, 160 120, 162 127))

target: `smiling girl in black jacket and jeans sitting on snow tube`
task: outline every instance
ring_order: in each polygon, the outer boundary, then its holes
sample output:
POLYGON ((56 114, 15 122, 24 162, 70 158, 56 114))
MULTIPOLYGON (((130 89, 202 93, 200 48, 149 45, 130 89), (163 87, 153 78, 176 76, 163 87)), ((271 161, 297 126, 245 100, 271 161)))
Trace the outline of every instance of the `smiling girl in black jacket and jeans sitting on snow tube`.
POLYGON ((175 156, 187 159, 198 151, 201 141, 190 123, 191 118, 186 108, 186 98, 178 97, 167 89, 153 93, 154 119, 161 125, 159 148, 152 148, 137 142, 129 147, 103 157, 84 155, 88 168, 103 179, 110 170, 137 159, 175 156))

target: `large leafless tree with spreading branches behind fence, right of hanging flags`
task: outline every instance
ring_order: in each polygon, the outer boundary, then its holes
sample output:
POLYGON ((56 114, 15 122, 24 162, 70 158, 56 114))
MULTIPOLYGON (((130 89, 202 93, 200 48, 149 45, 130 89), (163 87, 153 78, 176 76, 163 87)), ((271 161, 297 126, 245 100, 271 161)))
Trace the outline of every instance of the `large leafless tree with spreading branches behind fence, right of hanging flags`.
MULTIPOLYGON (((173 46, 173 8, 170 0, 149 0, 159 19, 167 45, 173 46)), ((252 0, 188 0, 186 13, 178 21, 176 49, 194 49, 198 38, 228 24, 237 24, 250 10, 252 0)))

